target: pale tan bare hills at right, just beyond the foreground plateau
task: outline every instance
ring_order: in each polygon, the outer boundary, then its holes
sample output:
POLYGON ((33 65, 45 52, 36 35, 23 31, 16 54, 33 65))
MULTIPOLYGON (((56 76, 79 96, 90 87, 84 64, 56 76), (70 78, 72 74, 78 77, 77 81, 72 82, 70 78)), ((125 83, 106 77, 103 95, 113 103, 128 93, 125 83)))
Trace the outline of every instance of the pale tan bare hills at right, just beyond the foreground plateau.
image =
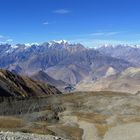
POLYGON ((140 68, 128 68, 120 74, 111 74, 97 81, 81 81, 78 91, 119 91, 137 93, 140 91, 140 68))

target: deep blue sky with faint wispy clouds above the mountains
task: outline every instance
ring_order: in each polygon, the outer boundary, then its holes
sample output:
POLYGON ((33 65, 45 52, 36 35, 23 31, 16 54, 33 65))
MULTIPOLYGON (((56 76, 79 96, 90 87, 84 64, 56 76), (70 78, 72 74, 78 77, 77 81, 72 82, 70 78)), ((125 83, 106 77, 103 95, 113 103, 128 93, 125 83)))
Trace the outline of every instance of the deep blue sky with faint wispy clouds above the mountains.
POLYGON ((140 44, 140 0, 0 0, 0 42, 140 44))

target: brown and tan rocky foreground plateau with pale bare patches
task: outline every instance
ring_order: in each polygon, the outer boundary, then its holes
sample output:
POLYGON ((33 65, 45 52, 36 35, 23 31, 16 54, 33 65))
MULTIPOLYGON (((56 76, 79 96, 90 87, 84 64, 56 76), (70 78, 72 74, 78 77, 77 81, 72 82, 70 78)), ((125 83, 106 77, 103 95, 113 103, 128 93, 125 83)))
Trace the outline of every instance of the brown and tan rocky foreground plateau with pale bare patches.
POLYGON ((1 116, 0 130, 69 140, 140 140, 139 94, 77 92, 42 99, 39 104, 41 108, 33 110, 33 100, 28 100, 28 111, 1 116))

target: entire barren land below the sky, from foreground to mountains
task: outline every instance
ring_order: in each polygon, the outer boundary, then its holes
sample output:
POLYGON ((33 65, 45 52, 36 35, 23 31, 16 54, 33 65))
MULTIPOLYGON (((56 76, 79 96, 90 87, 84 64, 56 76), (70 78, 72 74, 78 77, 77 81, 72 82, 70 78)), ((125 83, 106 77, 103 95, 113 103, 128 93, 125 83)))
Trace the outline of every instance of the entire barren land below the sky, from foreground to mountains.
MULTIPOLYGON (((127 61, 133 53, 123 60, 119 46, 115 57, 108 47, 64 41, 6 46, 0 139, 140 140, 140 68, 135 57, 127 61)), ((129 46, 125 51, 130 48, 135 52, 129 46)))

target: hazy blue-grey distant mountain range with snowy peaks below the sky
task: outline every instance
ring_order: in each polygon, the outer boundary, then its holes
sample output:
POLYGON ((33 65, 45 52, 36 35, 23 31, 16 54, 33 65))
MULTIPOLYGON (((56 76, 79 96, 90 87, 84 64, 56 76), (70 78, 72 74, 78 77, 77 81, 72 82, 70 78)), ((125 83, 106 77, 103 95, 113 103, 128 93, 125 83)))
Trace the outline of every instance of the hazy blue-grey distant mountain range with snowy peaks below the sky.
POLYGON ((74 85, 84 79, 100 79, 110 67, 116 73, 138 67, 139 50, 121 45, 90 49, 64 40, 31 45, 1 44, 0 67, 28 76, 43 71, 54 80, 74 85))

